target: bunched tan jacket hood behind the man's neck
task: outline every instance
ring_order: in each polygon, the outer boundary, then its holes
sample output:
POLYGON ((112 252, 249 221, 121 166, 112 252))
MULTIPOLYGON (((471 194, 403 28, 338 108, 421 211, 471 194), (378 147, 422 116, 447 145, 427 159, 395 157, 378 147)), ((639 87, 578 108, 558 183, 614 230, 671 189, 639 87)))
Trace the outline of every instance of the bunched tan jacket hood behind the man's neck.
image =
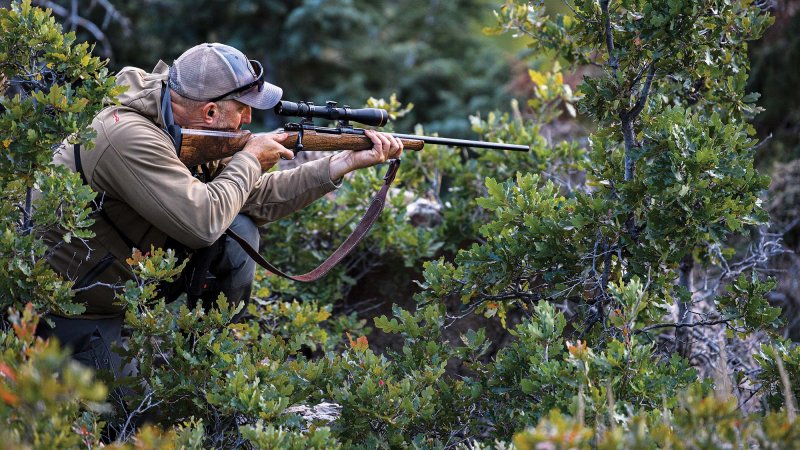
POLYGON ((169 66, 164 61, 159 61, 152 73, 136 67, 123 68, 117 73, 117 84, 127 86, 128 90, 118 97, 119 102, 163 128, 161 89, 168 76, 169 66))

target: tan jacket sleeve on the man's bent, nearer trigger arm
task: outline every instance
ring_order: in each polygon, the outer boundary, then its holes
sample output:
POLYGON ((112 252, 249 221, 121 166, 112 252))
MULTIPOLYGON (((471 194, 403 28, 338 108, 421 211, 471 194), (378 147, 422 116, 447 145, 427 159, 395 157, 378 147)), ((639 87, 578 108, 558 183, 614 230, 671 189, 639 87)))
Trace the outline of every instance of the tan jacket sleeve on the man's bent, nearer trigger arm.
POLYGON ((259 179, 256 157, 240 152, 213 181, 202 183, 178 159, 161 130, 142 123, 129 127, 105 130, 116 137, 97 161, 92 184, 190 248, 214 243, 259 179))

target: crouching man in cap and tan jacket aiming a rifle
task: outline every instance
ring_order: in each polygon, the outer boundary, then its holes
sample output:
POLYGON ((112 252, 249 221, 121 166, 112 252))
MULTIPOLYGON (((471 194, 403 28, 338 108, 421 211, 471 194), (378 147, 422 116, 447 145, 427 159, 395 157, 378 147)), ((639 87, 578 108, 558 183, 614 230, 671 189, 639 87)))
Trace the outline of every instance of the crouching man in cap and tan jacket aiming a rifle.
MULTIPOLYGON (((238 243, 223 238, 226 229, 257 248, 258 225, 333 191, 346 173, 398 158, 403 150, 391 135, 367 131, 374 144, 369 151, 344 151, 265 173, 293 154, 282 145, 286 134, 263 134, 227 161, 190 169, 178 158, 168 126, 230 131, 247 125, 252 108, 272 108, 282 95, 264 81, 261 64, 233 47, 201 44, 172 67, 159 61, 152 73, 125 68, 117 82, 128 90, 120 106, 95 117, 95 148, 67 146, 55 156, 56 163, 80 172, 98 193, 102 206, 92 227, 96 236, 63 243, 58 231, 46 237, 53 246, 50 264, 75 280, 76 299, 86 312, 78 318, 50 317, 55 328, 44 327, 41 334, 57 336, 73 349, 75 359, 98 369, 119 370, 119 358, 109 348, 119 340, 123 323, 124 307, 115 294, 132 278, 125 260, 133 248, 202 252, 201 262, 209 263, 212 275, 205 296, 222 292, 232 302, 247 301, 255 264, 238 243), (198 173, 206 179, 198 179, 198 173)), ((196 275, 185 271, 162 292, 174 299, 192 288, 196 275)))

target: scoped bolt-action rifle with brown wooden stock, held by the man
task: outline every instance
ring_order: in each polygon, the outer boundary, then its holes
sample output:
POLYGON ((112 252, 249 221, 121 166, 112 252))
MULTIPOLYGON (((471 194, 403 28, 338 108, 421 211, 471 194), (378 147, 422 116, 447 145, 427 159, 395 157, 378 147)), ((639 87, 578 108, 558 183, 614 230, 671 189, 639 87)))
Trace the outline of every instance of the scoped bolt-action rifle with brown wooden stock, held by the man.
MULTIPOLYGON (((353 109, 349 106, 336 107, 336 102, 326 106, 316 106, 309 102, 279 102, 274 111, 280 116, 296 116, 298 123, 287 123, 280 131, 289 134, 284 146, 295 155, 301 151, 369 150, 372 141, 364 135, 363 128, 355 128, 350 123, 384 126, 389 121, 388 113, 379 108, 353 109), (338 121, 336 127, 314 125, 313 118, 338 121)), ((488 148, 495 150, 529 151, 527 145, 502 144, 466 139, 449 139, 413 134, 390 133, 403 141, 406 150, 422 150, 425 144, 446 145, 450 147, 488 148)), ((188 167, 198 166, 208 161, 226 158, 244 148, 250 140, 251 132, 181 129, 176 147, 178 156, 188 167)))

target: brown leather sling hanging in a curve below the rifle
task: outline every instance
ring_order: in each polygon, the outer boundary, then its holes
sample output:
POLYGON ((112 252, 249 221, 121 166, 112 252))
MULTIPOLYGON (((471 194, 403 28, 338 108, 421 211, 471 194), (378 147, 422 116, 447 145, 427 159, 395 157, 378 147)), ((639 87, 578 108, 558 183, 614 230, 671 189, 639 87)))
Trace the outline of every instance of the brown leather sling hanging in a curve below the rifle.
POLYGON ((340 245, 339 248, 337 248, 336 251, 334 251, 333 254, 328 257, 328 259, 323 261, 322 264, 320 264, 316 269, 303 275, 288 275, 282 272, 280 269, 264 259, 264 257, 258 253, 257 249, 254 249, 246 240, 244 240, 244 238, 233 232, 230 228, 225 230, 225 234, 238 242, 239 245, 242 246, 242 249, 245 251, 245 253, 253 258, 258 265, 269 270, 275 275, 304 283, 319 280, 331 269, 333 269, 334 266, 339 263, 339 261, 347 256, 353 250, 353 248, 358 245, 359 242, 361 242, 361 239, 366 236, 370 228, 372 228, 372 225, 378 219, 378 216, 380 216, 381 211, 383 211, 383 207, 386 204, 386 194, 389 192, 389 185, 391 185, 392 181, 394 181, 394 177, 397 175, 397 169, 399 167, 399 159, 392 160, 389 163, 389 169, 386 171, 386 175, 383 177, 383 186, 381 186, 381 189, 377 194, 375 194, 375 197, 372 199, 369 208, 367 208, 367 212, 364 213, 364 217, 361 218, 361 221, 358 223, 355 230, 350 233, 350 236, 344 240, 342 245, 340 245))

